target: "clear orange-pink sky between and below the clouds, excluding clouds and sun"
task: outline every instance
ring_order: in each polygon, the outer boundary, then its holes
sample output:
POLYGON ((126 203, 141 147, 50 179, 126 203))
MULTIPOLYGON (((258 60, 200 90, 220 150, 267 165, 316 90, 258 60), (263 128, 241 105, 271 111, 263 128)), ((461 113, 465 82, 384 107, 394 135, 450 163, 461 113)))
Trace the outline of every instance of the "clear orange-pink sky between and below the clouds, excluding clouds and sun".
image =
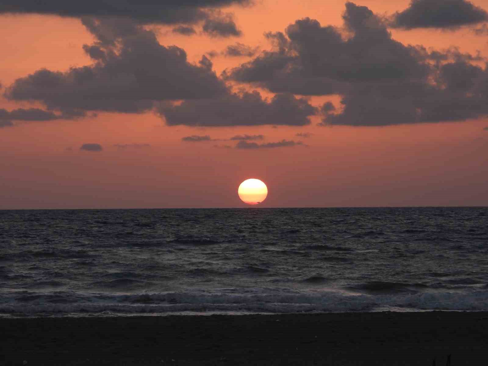
MULTIPOLYGON (((488 9, 488 1, 472 1, 488 9)), ((379 14, 392 14, 408 0, 357 2, 379 14)), ((236 41, 271 49, 264 32, 284 31, 297 19, 342 26, 345 1, 258 0, 252 6, 223 9, 234 13, 242 37, 174 35, 158 29, 163 45, 183 48, 190 62, 236 41)), ((2 91, 18 78, 46 68, 66 71, 90 65, 82 45, 95 41, 76 18, 1 15, 2 91)), ((488 55, 488 36, 468 27, 391 30, 404 44, 488 55)), ((249 57, 212 58, 220 75, 249 57)), ((252 89, 245 86, 247 89, 252 89)), ((266 96, 273 93, 260 89, 266 96)), ((312 97, 313 105, 337 104, 338 97, 312 97)), ((0 108, 43 108, 40 102, 0 98, 0 108)), ((96 117, 48 122, 17 122, 0 128, 0 209, 244 207, 237 195, 248 178, 266 183, 260 207, 488 205, 488 127, 486 118, 382 127, 317 126, 188 127, 167 126, 158 115, 99 112, 96 117), (308 138, 297 133, 310 133, 308 138), (263 135, 258 143, 302 141, 293 147, 235 149, 235 142, 183 142, 191 135, 226 140, 263 135), (81 151, 99 143, 101 152, 81 151), (149 144, 120 148, 115 144, 149 144), (216 147, 217 145, 218 147, 216 147)))

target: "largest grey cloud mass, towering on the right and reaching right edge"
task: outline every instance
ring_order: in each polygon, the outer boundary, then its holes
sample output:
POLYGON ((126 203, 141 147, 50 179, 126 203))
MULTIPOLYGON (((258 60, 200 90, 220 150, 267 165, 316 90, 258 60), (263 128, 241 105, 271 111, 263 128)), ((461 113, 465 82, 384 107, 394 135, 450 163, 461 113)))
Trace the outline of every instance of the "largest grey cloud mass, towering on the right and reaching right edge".
POLYGON ((437 51, 392 39, 384 18, 346 3, 343 34, 317 20, 267 33, 271 51, 226 70, 227 80, 275 93, 340 95, 318 109, 321 125, 386 126, 464 121, 488 113, 488 69, 478 53, 437 51))

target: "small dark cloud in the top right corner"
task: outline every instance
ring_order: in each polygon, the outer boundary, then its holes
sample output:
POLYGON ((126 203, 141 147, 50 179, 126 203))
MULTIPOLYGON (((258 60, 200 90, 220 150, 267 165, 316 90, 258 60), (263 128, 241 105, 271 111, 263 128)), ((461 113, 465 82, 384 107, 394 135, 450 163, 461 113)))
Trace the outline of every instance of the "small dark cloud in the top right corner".
POLYGON ((488 20, 482 8, 466 0, 412 0, 407 9, 394 15, 392 27, 454 28, 488 20))

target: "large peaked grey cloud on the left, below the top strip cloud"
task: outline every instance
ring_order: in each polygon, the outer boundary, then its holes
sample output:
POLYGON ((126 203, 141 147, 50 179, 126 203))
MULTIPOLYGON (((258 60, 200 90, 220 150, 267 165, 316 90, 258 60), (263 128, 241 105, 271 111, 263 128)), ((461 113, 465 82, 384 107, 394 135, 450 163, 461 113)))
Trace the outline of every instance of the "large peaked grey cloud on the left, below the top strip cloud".
POLYGON ((150 110, 154 101, 211 98, 226 92, 208 63, 189 63, 182 48, 161 45, 153 31, 133 21, 84 18, 83 24, 97 39, 84 47, 93 65, 66 72, 38 70, 14 81, 5 96, 43 102, 64 113, 138 113, 150 110))

